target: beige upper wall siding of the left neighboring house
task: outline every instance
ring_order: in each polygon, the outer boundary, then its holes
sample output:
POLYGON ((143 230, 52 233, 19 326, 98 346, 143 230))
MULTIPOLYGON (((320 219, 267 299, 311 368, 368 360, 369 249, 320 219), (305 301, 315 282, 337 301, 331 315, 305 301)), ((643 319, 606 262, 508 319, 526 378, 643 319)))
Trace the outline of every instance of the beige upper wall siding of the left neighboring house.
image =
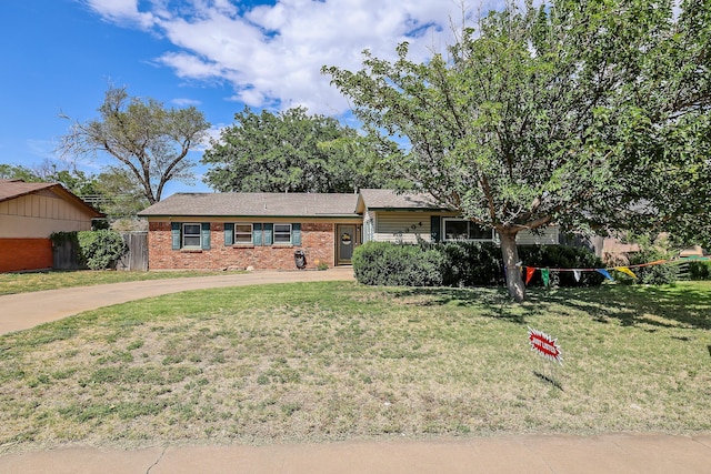
POLYGON ((0 238, 48 238, 52 232, 88 231, 91 216, 59 196, 24 195, 0 203, 0 238))

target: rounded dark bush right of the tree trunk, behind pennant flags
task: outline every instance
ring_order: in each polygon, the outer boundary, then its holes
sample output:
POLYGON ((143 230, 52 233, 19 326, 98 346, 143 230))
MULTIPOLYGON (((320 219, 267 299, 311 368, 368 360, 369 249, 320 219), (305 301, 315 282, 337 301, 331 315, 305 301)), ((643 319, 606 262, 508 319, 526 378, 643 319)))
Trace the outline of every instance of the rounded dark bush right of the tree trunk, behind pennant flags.
MULTIPOLYGON (((603 269, 602 260, 588 249, 567 245, 521 245, 519 259, 525 266, 541 269, 603 269)), ((597 286, 604 276, 598 272, 582 272, 580 281, 573 272, 550 272, 551 286, 597 286)), ((535 272, 530 285, 542 285, 541 272, 535 272)))

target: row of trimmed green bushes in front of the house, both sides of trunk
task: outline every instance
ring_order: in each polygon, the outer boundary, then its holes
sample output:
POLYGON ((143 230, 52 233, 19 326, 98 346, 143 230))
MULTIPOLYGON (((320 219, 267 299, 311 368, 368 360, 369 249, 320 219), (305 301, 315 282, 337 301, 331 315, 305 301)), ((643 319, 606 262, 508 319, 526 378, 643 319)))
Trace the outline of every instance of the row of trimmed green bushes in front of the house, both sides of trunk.
MULTIPOLYGON (((519 246, 525 265, 555 269, 599 269, 600 259, 585 249, 562 245, 519 246)), ((493 244, 448 242, 441 244, 394 244, 368 242, 353 252, 353 273, 360 283, 404 286, 491 286, 503 284, 501 249, 493 244)), ((599 285, 604 276, 583 272, 551 272, 551 284, 599 285)), ((541 285, 535 272, 533 285, 541 285)))

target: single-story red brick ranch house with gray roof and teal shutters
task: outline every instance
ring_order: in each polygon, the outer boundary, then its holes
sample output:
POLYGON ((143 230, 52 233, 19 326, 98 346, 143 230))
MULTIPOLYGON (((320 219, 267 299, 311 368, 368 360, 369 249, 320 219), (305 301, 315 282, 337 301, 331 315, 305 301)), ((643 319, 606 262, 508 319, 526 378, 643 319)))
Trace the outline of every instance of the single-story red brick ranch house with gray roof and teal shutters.
MULTIPOLYGON (((294 269, 351 263, 368 241, 495 242, 427 194, 178 193, 139 212, 148 218, 151 270, 294 269)), ((520 243, 558 244, 558 228, 520 233, 520 243)))

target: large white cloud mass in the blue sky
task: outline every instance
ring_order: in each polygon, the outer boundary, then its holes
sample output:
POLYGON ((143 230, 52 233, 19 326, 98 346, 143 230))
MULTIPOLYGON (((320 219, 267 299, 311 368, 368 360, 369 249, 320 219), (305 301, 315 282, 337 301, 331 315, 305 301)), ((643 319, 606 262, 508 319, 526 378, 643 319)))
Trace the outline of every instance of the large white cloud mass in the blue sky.
MULTIPOLYGON (((104 19, 164 36, 177 48, 157 61, 180 78, 232 84, 232 99, 252 107, 340 113, 346 99, 320 72, 360 69, 364 49, 394 58, 410 42, 411 59, 451 42, 459 0, 277 0, 246 7, 230 0, 86 0, 104 19)), ((497 0, 498 1, 498 0, 497 0)), ((487 9, 495 6, 489 2, 487 9)))

